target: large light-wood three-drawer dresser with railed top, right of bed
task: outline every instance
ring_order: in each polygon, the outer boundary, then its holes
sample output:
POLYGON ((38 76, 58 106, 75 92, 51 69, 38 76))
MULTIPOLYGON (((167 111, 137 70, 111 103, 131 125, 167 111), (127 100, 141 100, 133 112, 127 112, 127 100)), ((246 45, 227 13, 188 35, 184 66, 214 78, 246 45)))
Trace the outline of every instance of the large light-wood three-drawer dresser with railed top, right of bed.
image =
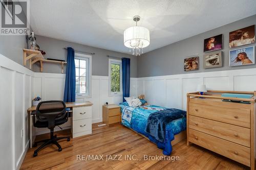
POLYGON ((195 143, 254 169, 255 96, 256 91, 187 93, 187 145, 195 143), (221 93, 254 96, 250 99, 223 98, 221 93), (224 102, 223 99, 250 103, 224 102))

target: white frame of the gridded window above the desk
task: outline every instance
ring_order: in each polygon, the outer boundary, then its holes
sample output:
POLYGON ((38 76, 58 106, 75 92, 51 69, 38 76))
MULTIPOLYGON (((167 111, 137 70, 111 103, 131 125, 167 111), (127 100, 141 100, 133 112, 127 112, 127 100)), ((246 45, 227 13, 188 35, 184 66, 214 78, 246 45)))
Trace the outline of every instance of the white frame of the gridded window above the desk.
POLYGON ((76 98, 91 98, 92 92, 92 56, 75 53, 75 59, 86 60, 86 93, 76 93, 76 98))

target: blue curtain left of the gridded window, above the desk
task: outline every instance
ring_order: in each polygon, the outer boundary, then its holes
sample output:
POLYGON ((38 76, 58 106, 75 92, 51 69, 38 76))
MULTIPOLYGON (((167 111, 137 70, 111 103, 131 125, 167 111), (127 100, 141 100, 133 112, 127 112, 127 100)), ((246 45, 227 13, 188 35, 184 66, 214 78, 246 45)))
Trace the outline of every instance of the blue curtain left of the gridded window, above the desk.
POLYGON ((75 100, 76 100, 75 51, 73 48, 68 47, 64 102, 75 102, 75 100))

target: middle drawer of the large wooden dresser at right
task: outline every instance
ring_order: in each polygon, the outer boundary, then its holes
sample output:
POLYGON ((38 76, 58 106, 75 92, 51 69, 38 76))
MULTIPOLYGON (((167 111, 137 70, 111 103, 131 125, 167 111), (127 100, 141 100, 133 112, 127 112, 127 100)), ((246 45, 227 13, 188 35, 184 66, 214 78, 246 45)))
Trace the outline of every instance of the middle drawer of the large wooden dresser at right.
POLYGON ((191 129, 250 147, 250 129, 248 128, 190 115, 188 121, 191 129))

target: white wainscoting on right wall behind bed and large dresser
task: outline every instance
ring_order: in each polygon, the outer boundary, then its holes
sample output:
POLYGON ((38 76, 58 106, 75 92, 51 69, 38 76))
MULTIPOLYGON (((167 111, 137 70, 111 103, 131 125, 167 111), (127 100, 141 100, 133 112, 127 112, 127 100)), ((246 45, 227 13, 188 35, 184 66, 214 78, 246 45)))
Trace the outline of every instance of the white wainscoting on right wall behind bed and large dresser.
POLYGON ((144 93, 149 104, 186 110, 186 94, 196 92, 199 84, 205 84, 208 90, 256 91, 256 68, 145 77, 137 81, 137 94, 144 93))

